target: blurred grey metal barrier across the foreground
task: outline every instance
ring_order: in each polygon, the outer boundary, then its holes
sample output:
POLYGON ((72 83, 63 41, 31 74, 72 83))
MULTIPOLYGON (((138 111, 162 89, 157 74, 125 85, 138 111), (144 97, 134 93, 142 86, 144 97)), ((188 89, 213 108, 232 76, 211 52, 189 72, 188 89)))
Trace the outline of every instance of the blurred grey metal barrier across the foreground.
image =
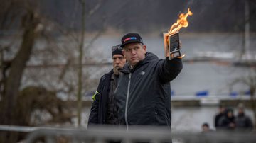
POLYGON ((86 129, 54 127, 17 127, 0 125, 0 130, 30 132, 27 143, 101 143, 172 142, 173 143, 256 143, 256 132, 171 132, 164 127, 95 126, 86 129), (11 127, 11 128, 10 128, 11 127))

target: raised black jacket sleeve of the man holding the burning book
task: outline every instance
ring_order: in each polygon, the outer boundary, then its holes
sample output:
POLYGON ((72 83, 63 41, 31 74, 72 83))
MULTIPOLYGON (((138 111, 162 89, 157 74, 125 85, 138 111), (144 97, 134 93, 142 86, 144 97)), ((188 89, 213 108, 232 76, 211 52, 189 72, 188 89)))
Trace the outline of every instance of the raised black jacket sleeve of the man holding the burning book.
POLYGON ((182 60, 179 58, 174 58, 169 60, 168 57, 163 59, 158 64, 158 74, 160 81, 166 83, 172 81, 178 76, 183 68, 182 60))

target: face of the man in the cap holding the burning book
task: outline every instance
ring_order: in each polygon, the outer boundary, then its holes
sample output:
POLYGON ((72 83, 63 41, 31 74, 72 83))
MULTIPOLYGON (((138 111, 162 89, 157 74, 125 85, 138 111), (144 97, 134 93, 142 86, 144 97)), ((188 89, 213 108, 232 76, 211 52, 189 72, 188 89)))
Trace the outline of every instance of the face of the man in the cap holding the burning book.
POLYGON ((126 57, 127 62, 131 66, 134 66, 139 61, 145 58, 146 45, 142 45, 139 42, 130 43, 124 46, 123 54, 126 57))

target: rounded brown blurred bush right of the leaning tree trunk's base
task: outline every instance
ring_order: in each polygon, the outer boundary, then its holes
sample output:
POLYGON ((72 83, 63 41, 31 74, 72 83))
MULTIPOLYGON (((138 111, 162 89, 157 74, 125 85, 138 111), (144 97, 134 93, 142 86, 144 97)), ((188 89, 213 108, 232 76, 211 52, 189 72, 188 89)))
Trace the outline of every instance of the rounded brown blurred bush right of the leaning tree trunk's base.
POLYGON ((16 121, 16 125, 70 123, 73 117, 68 105, 57 98, 56 91, 48 91, 46 88, 36 86, 28 86, 20 91, 17 106, 14 117, 19 120, 16 121), (36 116, 36 112, 48 114, 50 117, 43 120, 42 115, 36 116))

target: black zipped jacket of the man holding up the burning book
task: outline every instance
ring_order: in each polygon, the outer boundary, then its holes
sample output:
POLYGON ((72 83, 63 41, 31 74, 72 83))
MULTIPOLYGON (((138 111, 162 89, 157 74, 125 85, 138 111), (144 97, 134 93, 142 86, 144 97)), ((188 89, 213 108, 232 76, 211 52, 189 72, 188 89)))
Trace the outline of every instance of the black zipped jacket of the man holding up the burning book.
POLYGON ((124 65, 114 92, 121 124, 171 127, 170 81, 181 69, 181 59, 159 59, 151 52, 133 69, 124 65))

